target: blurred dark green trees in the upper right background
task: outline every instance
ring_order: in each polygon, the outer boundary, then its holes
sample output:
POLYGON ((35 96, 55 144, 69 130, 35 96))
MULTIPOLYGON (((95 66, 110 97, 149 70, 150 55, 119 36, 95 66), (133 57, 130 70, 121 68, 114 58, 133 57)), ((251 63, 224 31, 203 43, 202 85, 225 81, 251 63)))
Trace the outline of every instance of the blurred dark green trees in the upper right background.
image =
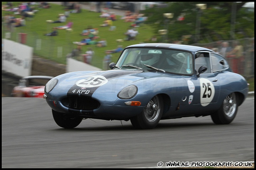
POLYGON ((191 40, 194 40, 197 19, 201 21, 198 28, 201 35, 200 42, 230 40, 232 24, 236 38, 254 37, 254 12, 246 12, 246 8, 242 7, 245 3, 166 2, 165 7, 150 8, 143 13, 148 17, 146 23, 152 24, 156 35, 158 30, 166 29, 168 24, 168 42, 181 40, 184 35, 191 35, 191 40), (199 18, 197 18, 196 4, 207 4, 207 9, 200 11, 199 18), (164 13, 174 13, 174 18, 166 22, 164 13), (231 23, 232 17, 234 23, 231 23))

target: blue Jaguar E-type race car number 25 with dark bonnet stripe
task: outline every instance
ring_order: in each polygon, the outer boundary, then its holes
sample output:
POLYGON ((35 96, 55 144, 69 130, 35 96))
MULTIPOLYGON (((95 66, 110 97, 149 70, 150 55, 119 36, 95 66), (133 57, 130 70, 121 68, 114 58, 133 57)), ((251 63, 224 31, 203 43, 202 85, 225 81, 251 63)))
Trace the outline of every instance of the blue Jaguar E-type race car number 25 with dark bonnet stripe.
POLYGON ((44 98, 60 127, 75 128, 90 118, 152 129, 163 119, 207 115, 215 124, 229 124, 248 94, 245 78, 203 47, 130 45, 110 68, 65 73, 46 84, 44 98))

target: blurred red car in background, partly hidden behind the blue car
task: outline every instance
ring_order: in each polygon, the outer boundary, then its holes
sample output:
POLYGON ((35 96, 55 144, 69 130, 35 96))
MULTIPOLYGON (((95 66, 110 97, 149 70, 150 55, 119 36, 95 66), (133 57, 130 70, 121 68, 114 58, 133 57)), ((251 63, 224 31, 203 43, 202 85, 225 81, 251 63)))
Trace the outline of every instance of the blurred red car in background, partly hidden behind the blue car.
POLYGON ((52 79, 51 76, 33 75, 20 79, 18 86, 12 90, 12 97, 39 97, 43 98, 44 86, 52 79))

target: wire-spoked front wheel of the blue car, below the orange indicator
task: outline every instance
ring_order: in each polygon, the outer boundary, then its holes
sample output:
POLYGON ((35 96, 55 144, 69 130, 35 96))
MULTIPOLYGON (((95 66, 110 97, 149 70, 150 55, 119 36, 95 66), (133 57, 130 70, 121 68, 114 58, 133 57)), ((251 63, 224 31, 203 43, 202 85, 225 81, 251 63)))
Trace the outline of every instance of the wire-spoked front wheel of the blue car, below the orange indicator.
POLYGON ((153 129, 158 125, 163 112, 163 100, 160 96, 154 96, 144 110, 130 119, 135 129, 153 129))

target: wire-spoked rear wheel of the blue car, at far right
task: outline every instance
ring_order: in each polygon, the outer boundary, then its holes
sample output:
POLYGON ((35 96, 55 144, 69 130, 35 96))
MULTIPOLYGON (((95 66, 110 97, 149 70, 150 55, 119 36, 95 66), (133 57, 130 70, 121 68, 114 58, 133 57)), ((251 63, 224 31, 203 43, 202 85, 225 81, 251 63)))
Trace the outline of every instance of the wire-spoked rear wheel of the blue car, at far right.
POLYGON ((231 93, 224 99, 220 109, 211 115, 215 124, 230 124, 238 111, 236 94, 231 93))

